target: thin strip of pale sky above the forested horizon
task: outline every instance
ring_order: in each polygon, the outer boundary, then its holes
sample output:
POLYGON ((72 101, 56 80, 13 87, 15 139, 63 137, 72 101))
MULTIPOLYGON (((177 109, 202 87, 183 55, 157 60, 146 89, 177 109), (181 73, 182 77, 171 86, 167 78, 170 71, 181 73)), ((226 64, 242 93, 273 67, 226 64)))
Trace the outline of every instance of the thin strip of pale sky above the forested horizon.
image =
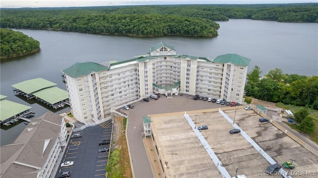
POLYGON ((318 2, 318 0, 1 0, 0 8, 86 7, 149 4, 260 4, 304 2, 318 2))

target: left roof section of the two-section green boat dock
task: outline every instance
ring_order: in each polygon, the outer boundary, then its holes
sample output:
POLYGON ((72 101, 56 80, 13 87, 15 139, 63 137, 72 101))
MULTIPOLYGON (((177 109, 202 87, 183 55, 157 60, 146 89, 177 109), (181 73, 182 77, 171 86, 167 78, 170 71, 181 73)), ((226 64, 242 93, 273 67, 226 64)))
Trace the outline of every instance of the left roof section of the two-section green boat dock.
POLYGON ((45 80, 43 78, 35 78, 31 80, 26 80, 11 86, 18 90, 23 91, 24 93, 30 94, 30 93, 39 91, 41 89, 52 87, 55 85, 57 84, 50 82, 48 80, 45 80))

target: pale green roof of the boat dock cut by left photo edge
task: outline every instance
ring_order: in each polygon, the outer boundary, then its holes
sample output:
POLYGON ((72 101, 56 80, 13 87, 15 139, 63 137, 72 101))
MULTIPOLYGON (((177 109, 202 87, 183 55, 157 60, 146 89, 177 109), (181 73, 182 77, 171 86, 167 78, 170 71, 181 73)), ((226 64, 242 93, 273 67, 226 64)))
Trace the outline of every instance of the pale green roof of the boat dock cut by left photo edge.
POLYGON ((9 119, 12 116, 29 110, 31 107, 8 100, 0 100, 0 120, 9 119))

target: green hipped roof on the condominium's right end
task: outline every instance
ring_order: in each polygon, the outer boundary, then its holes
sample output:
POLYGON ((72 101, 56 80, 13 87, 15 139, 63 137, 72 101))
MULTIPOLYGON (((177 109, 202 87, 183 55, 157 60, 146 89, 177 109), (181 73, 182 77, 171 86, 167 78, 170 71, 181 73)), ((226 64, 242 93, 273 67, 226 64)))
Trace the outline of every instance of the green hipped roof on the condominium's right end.
POLYGON ((236 55, 236 54, 226 54, 218 56, 216 59, 214 59, 212 62, 218 62, 218 63, 233 63, 235 65, 244 65, 248 66, 251 59, 236 55))

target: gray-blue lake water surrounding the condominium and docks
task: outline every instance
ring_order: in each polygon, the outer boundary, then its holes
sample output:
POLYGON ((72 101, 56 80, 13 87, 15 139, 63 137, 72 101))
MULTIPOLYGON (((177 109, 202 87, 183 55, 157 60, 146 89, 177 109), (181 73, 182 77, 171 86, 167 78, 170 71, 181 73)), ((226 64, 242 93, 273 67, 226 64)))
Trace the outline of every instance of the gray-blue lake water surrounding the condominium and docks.
MULTIPOLYGON (((219 36, 215 38, 166 36, 137 38, 96 35, 47 30, 14 29, 38 40, 41 50, 25 57, 1 61, 0 94, 7 100, 32 107, 35 117, 45 114, 45 108, 14 95, 11 85, 34 78, 44 78, 66 89, 61 70, 76 62, 101 63, 127 60, 144 55, 159 42, 173 46, 178 54, 216 58, 224 54, 238 54, 251 59, 249 71, 257 65, 266 74, 281 68, 284 73, 318 75, 318 23, 278 23, 248 19, 218 22, 219 36)), ((54 111, 64 113, 70 108, 54 111)), ((25 128, 1 125, 1 143, 12 143, 25 128)))

